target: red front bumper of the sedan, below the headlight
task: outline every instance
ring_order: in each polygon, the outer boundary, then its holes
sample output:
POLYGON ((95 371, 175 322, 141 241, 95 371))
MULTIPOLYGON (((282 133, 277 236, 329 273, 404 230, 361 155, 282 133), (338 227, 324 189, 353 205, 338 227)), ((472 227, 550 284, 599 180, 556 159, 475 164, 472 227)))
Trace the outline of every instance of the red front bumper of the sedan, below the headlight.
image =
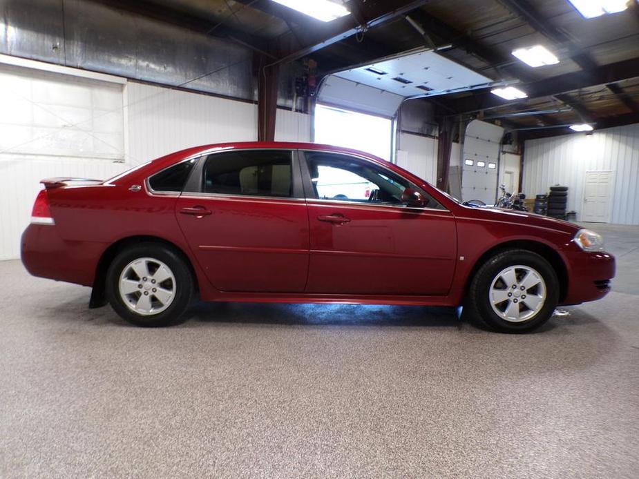
POLYGON ((562 304, 580 304, 599 300, 610 292, 610 283, 615 277, 615 257, 603 251, 569 253, 568 291, 562 304))

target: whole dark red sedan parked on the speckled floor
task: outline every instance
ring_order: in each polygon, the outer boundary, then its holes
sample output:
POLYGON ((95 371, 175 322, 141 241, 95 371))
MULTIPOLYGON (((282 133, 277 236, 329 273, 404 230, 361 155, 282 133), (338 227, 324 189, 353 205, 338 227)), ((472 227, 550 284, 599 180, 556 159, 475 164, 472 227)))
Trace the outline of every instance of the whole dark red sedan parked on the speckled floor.
POLYGON ((204 301, 464 305, 523 332, 610 291, 601 237, 470 208, 365 153, 298 143, 200 146, 106 182, 55 178, 22 237, 32 275, 92 286, 141 326, 204 301))

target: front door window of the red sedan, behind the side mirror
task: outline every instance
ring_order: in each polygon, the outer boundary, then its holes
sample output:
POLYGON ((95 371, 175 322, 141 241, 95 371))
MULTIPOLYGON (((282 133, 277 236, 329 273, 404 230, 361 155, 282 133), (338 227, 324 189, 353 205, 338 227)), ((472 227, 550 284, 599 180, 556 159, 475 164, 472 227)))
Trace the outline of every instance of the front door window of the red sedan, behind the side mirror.
MULTIPOLYGON (((401 205, 404 190, 417 188, 407 179, 363 159, 322 152, 306 152, 305 156, 318 199, 401 205)), ((428 199, 429 208, 439 207, 435 199, 417 189, 428 199)))

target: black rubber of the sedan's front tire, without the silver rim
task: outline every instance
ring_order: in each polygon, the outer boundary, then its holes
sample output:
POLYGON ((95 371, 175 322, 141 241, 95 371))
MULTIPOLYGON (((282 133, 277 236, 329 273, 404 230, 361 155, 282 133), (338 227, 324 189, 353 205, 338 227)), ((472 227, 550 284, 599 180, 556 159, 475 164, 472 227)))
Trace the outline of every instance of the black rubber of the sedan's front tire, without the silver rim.
MULTIPOLYGON (((519 290, 517 289, 516 291, 519 290)), ((531 290, 526 290, 526 293, 528 291, 531 290)), ((507 301, 510 304, 512 300, 507 301)), ((525 300, 520 301, 524 303, 524 308, 526 308, 525 300)), ((542 326, 551 318, 557 302, 559 302, 559 280, 557 280, 557 274, 551 264, 537 253, 522 249, 509 249, 495 254, 479 267, 470 282, 463 314, 464 317, 468 317, 469 320, 474 321, 478 326, 487 326, 489 329, 502 333, 527 333, 542 326), (490 304, 490 287, 493 284, 493 280, 496 280, 499 273, 509 266, 531 268, 542 277, 545 283, 545 299, 540 305, 540 309, 530 318, 521 322, 505 320, 495 313, 493 306, 490 304)), ((517 306, 517 308, 519 308, 519 311, 522 310, 521 305, 517 306)), ((527 311, 527 309, 524 310, 524 315, 527 311)))

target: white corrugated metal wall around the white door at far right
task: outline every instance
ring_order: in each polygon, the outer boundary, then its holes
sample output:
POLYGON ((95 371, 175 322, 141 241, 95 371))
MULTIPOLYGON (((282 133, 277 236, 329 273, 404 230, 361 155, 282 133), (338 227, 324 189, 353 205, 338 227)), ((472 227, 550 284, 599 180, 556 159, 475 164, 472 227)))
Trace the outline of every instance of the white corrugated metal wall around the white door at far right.
POLYGON ((546 193, 553 184, 569 187, 569 211, 582 213, 586 171, 613 171, 611 222, 639 224, 639 124, 526 141, 524 191, 546 193))

